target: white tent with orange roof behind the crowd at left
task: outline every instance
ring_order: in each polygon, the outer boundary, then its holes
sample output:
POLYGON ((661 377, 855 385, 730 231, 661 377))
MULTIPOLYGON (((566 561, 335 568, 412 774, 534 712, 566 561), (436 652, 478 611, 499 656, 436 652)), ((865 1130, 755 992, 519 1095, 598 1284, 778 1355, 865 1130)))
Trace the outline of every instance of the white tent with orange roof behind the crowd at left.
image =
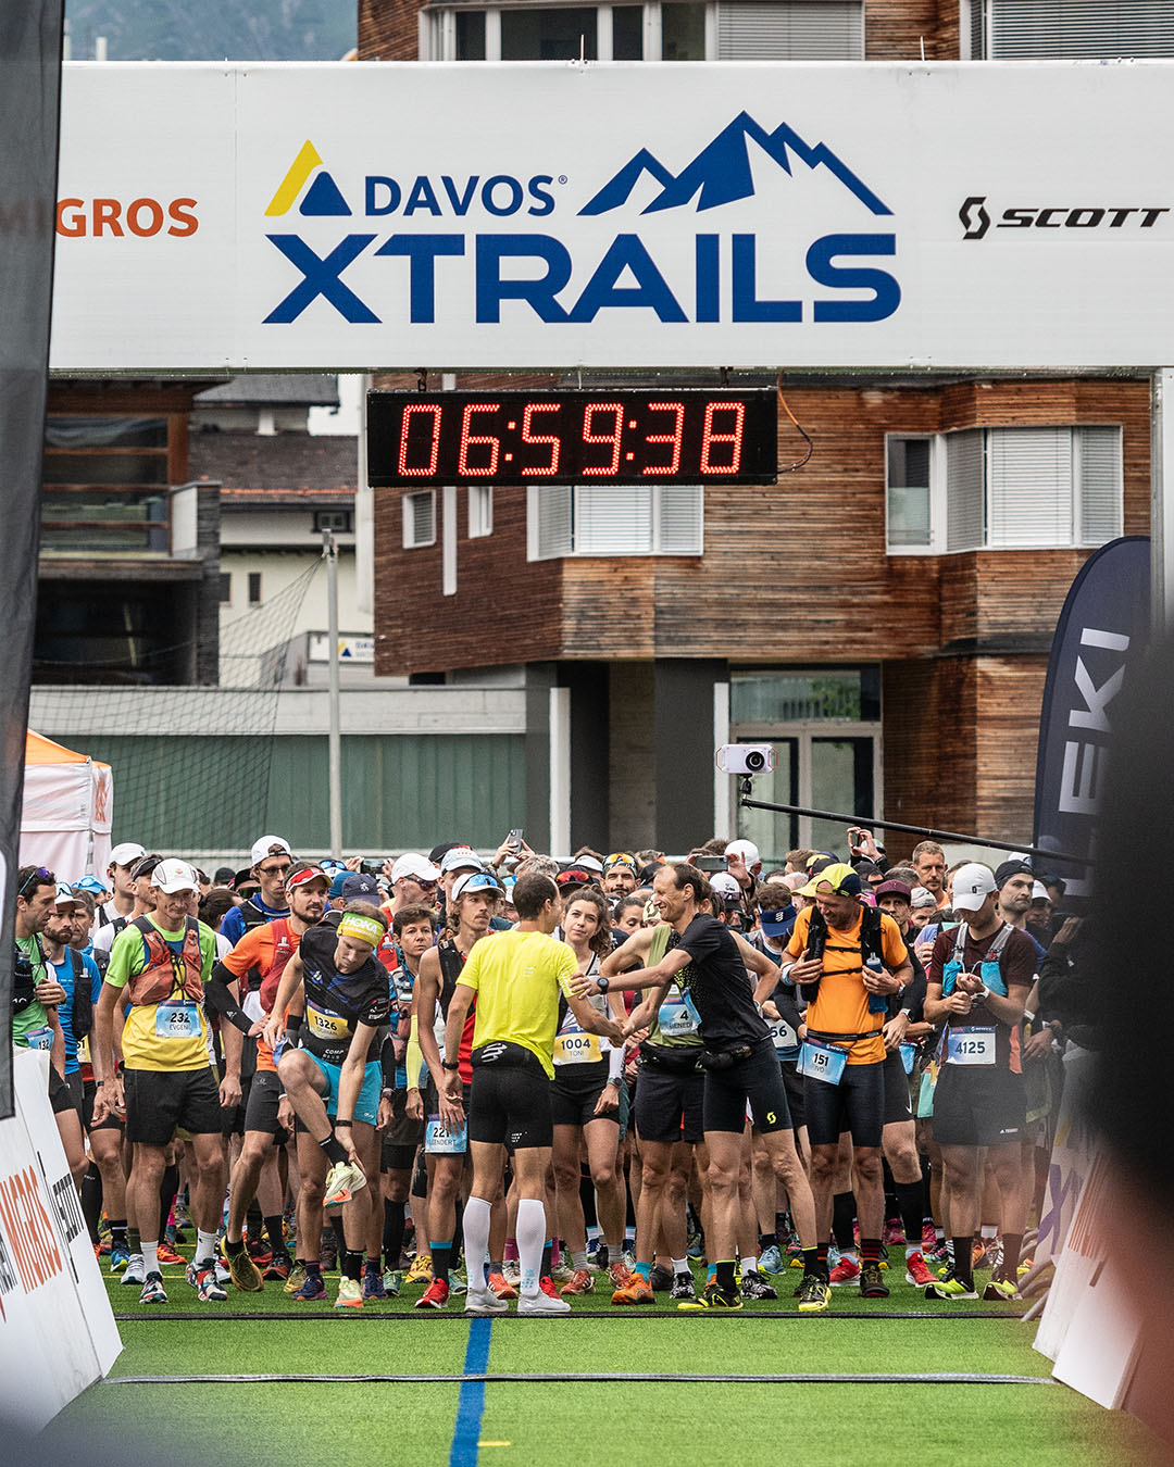
POLYGON ((41 738, 25 738, 21 864, 47 866, 63 882, 106 876, 114 782, 109 764, 41 738))

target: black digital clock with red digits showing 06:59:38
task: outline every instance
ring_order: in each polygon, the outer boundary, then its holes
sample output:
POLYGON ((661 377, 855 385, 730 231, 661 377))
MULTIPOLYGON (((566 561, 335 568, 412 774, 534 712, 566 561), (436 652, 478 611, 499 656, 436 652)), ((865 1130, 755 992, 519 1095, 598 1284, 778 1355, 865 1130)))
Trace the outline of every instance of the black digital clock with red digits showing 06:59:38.
POLYGON ((775 392, 371 392, 376 489, 773 484, 775 392))

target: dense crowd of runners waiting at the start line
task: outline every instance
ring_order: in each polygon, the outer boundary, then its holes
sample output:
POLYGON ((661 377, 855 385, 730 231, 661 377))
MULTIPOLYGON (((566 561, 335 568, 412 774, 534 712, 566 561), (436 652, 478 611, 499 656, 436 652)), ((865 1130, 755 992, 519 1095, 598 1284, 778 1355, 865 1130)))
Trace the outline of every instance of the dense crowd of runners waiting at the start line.
POLYGON ((842 855, 126 842, 21 868, 13 1043, 148 1304, 169 1265, 291 1309, 1016 1300, 1080 920, 1027 858, 842 855))

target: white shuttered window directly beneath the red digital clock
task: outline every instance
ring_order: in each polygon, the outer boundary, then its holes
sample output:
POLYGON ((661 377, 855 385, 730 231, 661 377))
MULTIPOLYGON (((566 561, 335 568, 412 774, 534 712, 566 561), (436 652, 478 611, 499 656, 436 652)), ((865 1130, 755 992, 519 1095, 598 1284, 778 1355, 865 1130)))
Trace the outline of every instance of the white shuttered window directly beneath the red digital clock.
POLYGON ((590 555, 701 555, 700 484, 531 486, 528 559, 590 555))

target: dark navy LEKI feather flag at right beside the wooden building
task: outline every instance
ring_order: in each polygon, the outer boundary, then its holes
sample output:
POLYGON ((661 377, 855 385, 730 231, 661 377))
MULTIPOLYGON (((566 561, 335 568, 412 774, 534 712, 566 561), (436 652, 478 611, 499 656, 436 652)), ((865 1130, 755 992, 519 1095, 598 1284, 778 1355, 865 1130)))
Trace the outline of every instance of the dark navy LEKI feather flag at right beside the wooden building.
MULTIPOLYGON (((1064 600, 1043 684, 1036 754, 1035 845, 1093 854, 1112 734, 1112 700, 1149 638, 1149 538, 1124 535, 1089 556, 1064 600)), ((1090 870, 1035 860, 1083 901, 1090 870)))

